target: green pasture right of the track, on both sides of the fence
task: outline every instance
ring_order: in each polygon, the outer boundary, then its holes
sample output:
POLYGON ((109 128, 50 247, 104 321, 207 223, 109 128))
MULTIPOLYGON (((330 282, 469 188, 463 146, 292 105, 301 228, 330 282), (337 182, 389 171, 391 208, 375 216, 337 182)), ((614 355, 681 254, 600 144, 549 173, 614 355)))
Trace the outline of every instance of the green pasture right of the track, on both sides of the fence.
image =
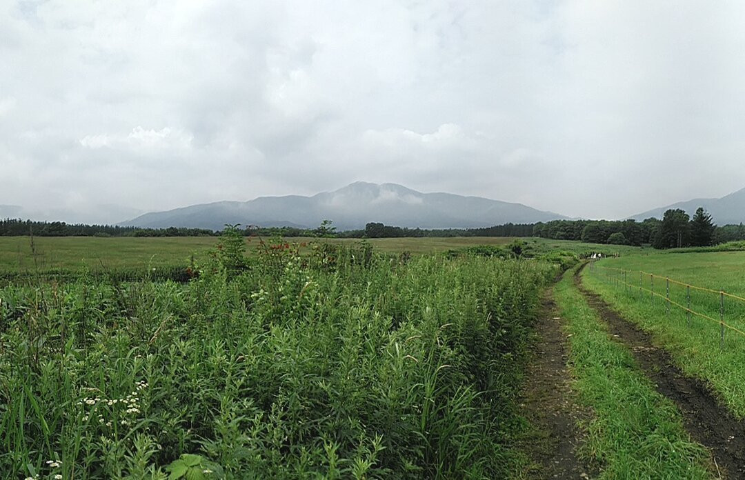
MULTIPOLYGON (((745 294, 745 253, 660 253, 650 256, 630 255, 618 259, 604 259, 597 267, 643 270, 675 280, 689 282, 713 290, 745 294)), ((664 298, 652 297, 650 278, 641 277, 645 291, 639 292, 638 273, 629 274, 633 288, 618 285, 619 276, 606 275, 603 268, 590 273, 586 269, 583 282, 615 306, 626 318, 650 331, 656 341, 671 352, 673 359, 688 375, 706 380, 726 405, 738 416, 745 417, 745 335, 724 329, 721 339, 720 295, 708 291, 691 290, 691 309, 711 319, 691 315, 671 305, 669 312, 664 298)), ((665 280, 655 279, 655 291, 666 295, 665 280)), ((671 283, 671 300, 687 305, 685 286, 671 283)), ((745 331, 745 302, 725 297, 724 321, 745 331)))

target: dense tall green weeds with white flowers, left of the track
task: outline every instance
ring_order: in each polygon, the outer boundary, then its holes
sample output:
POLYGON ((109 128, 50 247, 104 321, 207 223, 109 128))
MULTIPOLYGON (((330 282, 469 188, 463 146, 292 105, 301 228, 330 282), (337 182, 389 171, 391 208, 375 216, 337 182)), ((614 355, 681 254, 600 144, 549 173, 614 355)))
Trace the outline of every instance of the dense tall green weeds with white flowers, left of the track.
POLYGON ((242 244, 0 288, 5 478, 504 478, 556 265, 242 244))

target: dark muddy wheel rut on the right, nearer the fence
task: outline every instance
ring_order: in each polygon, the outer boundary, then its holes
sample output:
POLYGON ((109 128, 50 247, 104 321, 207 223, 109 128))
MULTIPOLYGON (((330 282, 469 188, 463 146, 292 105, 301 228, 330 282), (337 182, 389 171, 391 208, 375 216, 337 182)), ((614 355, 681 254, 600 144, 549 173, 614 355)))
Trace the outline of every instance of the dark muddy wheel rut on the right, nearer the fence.
POLYGON ((691 438, 711 450, 715 467, 723 476, 745 479, 745 422, 736 420, 720 405, 705 382, 685 376, 665 350, 653 345, 647 332, 633 326, 600 296, 584 288, 579 274, 577 271, 574 275, 574 284, 606 321, 612 335, 632 350, 657 391, 677 405, 691 438))

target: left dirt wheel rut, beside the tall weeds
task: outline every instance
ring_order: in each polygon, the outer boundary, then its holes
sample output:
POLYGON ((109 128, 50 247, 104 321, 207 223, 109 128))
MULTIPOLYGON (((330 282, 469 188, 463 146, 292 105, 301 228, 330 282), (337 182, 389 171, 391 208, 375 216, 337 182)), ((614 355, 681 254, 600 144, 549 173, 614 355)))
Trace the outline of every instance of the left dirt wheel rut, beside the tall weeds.
POLYGON ((523 392, 526 417, 533 426, 524 449, 539 468, 529 479, 588 478, 574 450, 580 443, 577 417, 567 369, 568 349, 562 320, 550 292, 542 300, 536 323, 535 350, 527 365, 523 392))

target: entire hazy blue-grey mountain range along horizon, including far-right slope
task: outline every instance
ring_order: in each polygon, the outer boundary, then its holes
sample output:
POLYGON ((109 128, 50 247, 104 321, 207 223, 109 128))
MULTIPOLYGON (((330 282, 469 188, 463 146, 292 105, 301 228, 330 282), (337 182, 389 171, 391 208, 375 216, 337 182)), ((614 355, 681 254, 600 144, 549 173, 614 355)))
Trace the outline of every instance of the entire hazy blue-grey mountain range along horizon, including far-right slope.
MULTIPOLYGON (((722 198, 694 198, 672 203, 627 218, 636 221, 650 217, 662 218, 667 209, 683 209, 692 216, 699 206, 703 206, 720 226, 745 223, 745 189, 722 198)), ((0 205, 0 218, 210 230, 222 230, 225 224, 314 228, 329 219, 338 230, 358 230, 364 229, 365 224, 371 221, 396 227, 437 229, 527 224, 568 217, 522 203, 450 193, 422 193, 396 183, 355 182, 333 192, 310 197, 286 195, 249 201, 220 201, 145 214, 141 210, 111 204, 86 205, 85 209, 80 210, 63 207, 42 210, 0 205), (131 219, 121 221, 127 217, 131 219)))

